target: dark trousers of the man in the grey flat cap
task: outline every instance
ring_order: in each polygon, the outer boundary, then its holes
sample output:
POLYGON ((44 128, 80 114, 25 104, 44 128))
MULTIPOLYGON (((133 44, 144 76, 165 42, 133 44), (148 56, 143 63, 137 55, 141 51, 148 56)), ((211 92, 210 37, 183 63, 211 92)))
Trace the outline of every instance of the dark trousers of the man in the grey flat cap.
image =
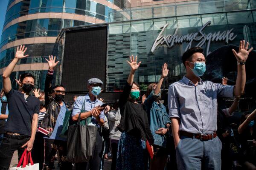
MULTIPOLYGON (((90 170, 99 170, 101 157, 102 157, 102 135, 98 131, 96 136, 96 144, 95 144, 95 149, 93 153, 93 159, 88 162, 90 170)), ((86 170, 86 167, 87 167, 87 162, 76 163, 76 170, 86 170)))

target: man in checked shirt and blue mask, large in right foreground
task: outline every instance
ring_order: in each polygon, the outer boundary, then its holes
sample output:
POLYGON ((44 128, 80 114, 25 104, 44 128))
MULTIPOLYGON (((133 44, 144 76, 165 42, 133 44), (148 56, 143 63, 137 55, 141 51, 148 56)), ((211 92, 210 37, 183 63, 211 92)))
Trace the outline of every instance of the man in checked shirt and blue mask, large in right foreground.
POLYGON ((221 169, 221 141, 217 130, 217 96, 233 98, 244 92, 245 62, 252 51, 240 41, 236 85, 221 85, 200 78, 205 70, 203 49, 187 50, 182 61, 186 75, 169 86, 168 107, 179 170, 221 169))

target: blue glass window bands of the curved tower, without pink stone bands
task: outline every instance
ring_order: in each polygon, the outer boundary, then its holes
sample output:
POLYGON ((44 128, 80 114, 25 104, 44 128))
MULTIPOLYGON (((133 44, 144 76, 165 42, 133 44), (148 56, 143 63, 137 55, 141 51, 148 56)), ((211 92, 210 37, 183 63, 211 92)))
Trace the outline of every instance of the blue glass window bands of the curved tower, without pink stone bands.
MULTIPOLYGON (((106 2, 108 2, 108 4, 112 3, 120 8, 123 6, 122 0, 106 0, 106 2)), ((93 24, 91 22, 81 21, 81 18, 76 20, 76 17, 74 17, 73 20, 62 19, 61 17, 39 17, 32 20, 23 19, 22 21, 19 21, 19 17, 29 14, 53 12, 55 14, 79 14, 81 16, 89 16, 108 22, 109 10, 111 10, 111 8, 108 6, 91 0, 22 0, 17 3, 15 0, 9 0, 4 20, 4 30, 0 41, 0 69, 9 65, 15 56, 16 46, 11 45, 11 47, 9 47, 8 43, 25 38, 57 37, 62 28, 93 24), (13 20, 15 20, 14 23, 12 23, 13 20)), ((26 42, 24 42, 24 44, 26 45, 26 42)), ((26 47, 28 48, 26 53, 29 54, 29 57, 21 59, 18 64, 43 64, 46 63, 45 58, 49 55, 58 56, 59 47, 53 42, 29 43, 26 47)), ((29 68, 27 71, 29 71, 29 68)), ((14 87, 16 87, 14 79, 17 79, 23 72, 25 71, 12 73, 11 79, 13 80, 12 85, 14 87)), ((35 74, 37 79, 35 86, 43 90, 45 71, 39 69, 36 71, 33 70, 32 73, 35 74)), ((56 79, 58 79, 58 77, 56 77, 56 79)), ((0 77, 0 82, 2 82, 2 77, 0 77)), ((2 83, 0 83, 0 88, 2 88, 2 83)))

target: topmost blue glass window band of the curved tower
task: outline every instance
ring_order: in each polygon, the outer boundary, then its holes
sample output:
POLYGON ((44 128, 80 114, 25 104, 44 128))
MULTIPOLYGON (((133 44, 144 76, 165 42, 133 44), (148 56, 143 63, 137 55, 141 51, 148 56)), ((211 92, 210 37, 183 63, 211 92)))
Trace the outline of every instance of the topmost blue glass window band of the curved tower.
POLYGON ((17 17, 42 12, 82 14, 108 21, 110 9, 90 0, 23 0, 6 11, 4 26, 17 17))

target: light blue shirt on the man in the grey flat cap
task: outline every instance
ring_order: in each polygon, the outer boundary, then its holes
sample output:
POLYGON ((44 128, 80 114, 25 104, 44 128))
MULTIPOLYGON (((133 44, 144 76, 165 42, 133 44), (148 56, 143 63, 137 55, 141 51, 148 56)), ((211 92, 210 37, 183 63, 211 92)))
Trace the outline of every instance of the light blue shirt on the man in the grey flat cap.
MULTIPOLYGON (((91 101, 88 94, 86 96, 79 96, 76 99, 75 103, 74 103, 74 107, 73 107, 73 111, 72 111, 72 116, 75 116, 76 114, 79 114, 81 112, 83 103, 84 103, 85 111, 91 111, 96 106, 101 106, 103 104, 98 99, 96 99, 95 101, 91 101)), ((104 121, 106 121, 105 120, 105 115, 104 115, 103 111, 100 113, 99 117, 100 117, 100 119, 103 119, 104 121)), ((96 126, 100 127, 100 125, 98 124, 97 120, 93 116, 92 116, 92 123, 89 124, 89 125, 96 125, 96 126)))

